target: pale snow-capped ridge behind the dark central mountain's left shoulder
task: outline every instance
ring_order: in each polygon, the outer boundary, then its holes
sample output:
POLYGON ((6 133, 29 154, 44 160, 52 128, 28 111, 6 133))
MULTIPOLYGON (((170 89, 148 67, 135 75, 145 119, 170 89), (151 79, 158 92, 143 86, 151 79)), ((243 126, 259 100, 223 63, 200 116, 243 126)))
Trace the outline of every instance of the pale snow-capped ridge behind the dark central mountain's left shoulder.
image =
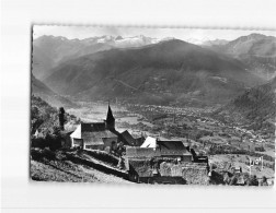
POLYGON ((141 47, 166 39, 172 38, 158 39, 139 35, 126 38, 100 36, 68 39, 61 36, 41 36, 33 42, 33 73, 37 79, 44 80, 51 74, 54 67, 66 60, 112 48, 141 47))

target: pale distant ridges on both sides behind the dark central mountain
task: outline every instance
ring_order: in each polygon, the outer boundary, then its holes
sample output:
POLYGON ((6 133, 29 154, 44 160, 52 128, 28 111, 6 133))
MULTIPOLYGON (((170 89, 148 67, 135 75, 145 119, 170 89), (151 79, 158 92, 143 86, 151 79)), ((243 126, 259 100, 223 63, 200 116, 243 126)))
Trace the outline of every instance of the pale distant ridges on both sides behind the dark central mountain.
MULTIPOLYGON (((33 73, 38 80, 45 80, 55 67, 64 61, 112 48, 139 48, 160 42, 174 39, 150 38, 143 35, 134 37, 97 36, 84 39, 68 39, 61 36, 41 36, 33 42, 33 73)), ((262 34, 241 36, 232 42, 223 39, 189 38, 186 42, 228 54, 243 61, 249 70, 265 80, 276 75, 275 37, 262 34)))

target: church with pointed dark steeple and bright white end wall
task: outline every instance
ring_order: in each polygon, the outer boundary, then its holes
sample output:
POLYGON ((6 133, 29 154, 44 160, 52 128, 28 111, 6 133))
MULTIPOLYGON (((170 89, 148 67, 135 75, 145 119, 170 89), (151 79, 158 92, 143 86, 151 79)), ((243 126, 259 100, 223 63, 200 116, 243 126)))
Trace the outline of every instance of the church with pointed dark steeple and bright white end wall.
POLYGON ((112 143, 117 143, 115 118, 110 105, 104 122, 82 122, 70 134, 70 138, 72 147, 83 150, 105 150, 111 147, 112 143))

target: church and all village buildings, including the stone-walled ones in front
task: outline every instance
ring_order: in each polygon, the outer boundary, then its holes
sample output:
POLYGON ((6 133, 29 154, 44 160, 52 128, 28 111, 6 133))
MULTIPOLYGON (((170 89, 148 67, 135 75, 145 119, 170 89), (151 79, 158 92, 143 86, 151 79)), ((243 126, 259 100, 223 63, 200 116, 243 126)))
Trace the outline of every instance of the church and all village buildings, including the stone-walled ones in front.
POLYGON ((102 150, 113 153, 124 144, 119 157, 129 180, 147 184, 208 184, 208 157, 197 156, 182 141, 161 138, 134 138, 127 130, 118 132, 108 106, 103 122, 82 122, 70 133, 70 146, 82 150, 102 150))

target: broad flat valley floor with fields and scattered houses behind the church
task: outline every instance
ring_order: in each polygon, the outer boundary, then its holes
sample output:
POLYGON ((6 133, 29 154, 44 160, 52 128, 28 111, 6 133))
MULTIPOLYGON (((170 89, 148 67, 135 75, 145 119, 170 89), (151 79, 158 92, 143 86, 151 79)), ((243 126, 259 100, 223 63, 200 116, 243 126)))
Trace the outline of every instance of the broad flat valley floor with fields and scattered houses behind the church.
MULTIPOLYGON (((80 110, 70 114, 85 121, 100 121, 106 114, 107 103, 82 103, 80 110)), ((208 155, 212 165, 221 166, 231 162, 232 167, 242 167, 249 173, 250 158, 264 157, 264 167, 253 167, 251 173, 257 178, 266 176, 269 181, 275 173, 275 134, 254 131, 242 123, 225 123, 212 118, 216 108, 168 107, 157 105, 126 106, 112 104, 116 128, 128 130, 135 138, 153 137, 181 140, 185 146, 198 155, 208 155), (261 152, 260 152, 261 151, 261 152), (230 161, 231 159, 231 161, 230 161)), ((229 166, 229 165, 228 165, 229 166)), ((228 169, 228 168, 220 168, 228 169)))

